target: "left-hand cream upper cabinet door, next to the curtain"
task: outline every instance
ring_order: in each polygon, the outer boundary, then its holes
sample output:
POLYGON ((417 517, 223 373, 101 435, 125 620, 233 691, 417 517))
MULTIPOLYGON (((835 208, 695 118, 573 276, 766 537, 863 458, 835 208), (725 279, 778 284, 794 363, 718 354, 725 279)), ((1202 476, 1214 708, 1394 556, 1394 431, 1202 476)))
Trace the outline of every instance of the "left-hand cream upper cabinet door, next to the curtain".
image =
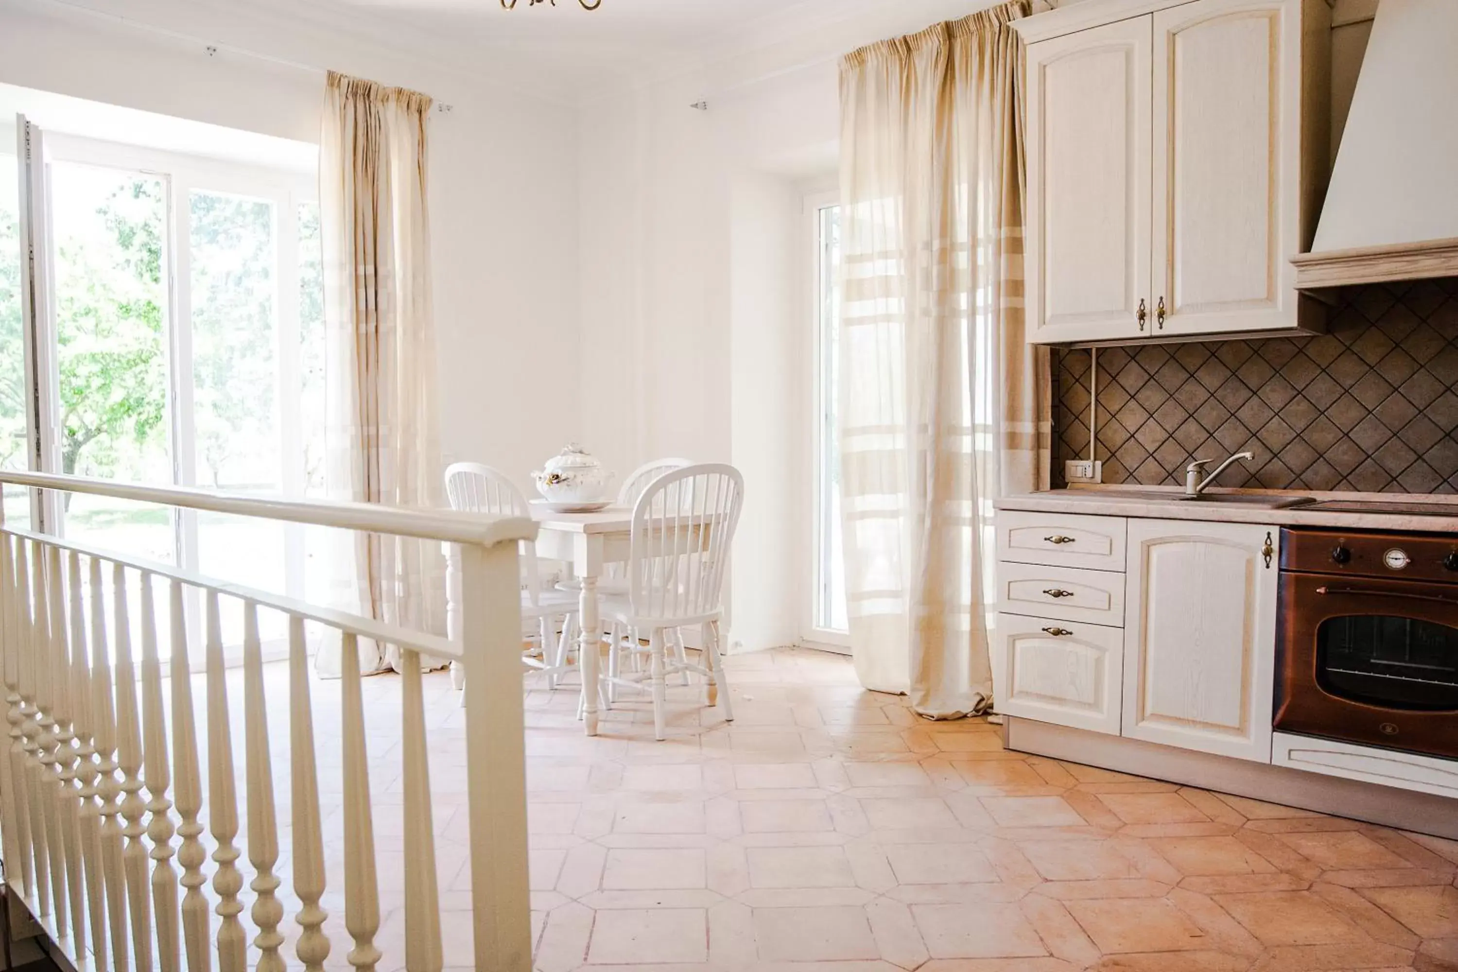
MULTIPOLYGON (((1130 340, 1149 297, 1152 17, 1028 47, 1028 334, 1130 340)), ((1146 306, 1147 310, 1147 306, 1146 306)))

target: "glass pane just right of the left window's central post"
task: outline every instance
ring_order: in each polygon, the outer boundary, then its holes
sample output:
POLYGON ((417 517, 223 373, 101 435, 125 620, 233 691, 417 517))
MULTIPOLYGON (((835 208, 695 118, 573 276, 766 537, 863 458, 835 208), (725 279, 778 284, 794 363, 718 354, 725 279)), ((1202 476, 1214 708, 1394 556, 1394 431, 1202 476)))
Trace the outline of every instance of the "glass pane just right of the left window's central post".
MULTIPOLYGON (((274 204, 194 191, 188 208, 197 484, 278 494, 274 204)), ((283 523, 200 512, 197 525, 204 574, 284 593, 283 523)), ((225 612, 223 622, 223 640, 241 641, 242 615, 225 612)), ((264 631, 264 637, 273 634, 264 631)))

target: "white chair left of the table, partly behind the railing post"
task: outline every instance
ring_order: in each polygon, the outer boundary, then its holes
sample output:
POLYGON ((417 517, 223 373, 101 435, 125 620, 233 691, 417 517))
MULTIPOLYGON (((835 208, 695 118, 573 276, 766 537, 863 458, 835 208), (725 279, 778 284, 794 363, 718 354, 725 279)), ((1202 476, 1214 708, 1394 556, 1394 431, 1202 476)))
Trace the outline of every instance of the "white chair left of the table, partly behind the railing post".
MULTIPOLYGON (((531 517, 532 509, 522 491, 499 469, 478 462, 458 462, 446 469, 446 498, 452 510, 467 513, 491 513, 497 516, 531 517)), ((537 564, 537 548, 521 545, 522 554, 522 622, 535 628, 539 654, 525 654, 522 662, 547 676, 547 686, 557 688, 558 679, 572 670, 569 662, 573 635, 576 634, 577 597, 567 592, 542 590, 541 570, 537 564), (557 621, 561 634, 557 635, 557 621)), ((461 637, 461 571, 456 567, 453 549, 448 545, 446 560, 446 632, 452 640, 461 637)), ((464 673, 452 666, 451 678, 456 688, 465 688, 464 673)))

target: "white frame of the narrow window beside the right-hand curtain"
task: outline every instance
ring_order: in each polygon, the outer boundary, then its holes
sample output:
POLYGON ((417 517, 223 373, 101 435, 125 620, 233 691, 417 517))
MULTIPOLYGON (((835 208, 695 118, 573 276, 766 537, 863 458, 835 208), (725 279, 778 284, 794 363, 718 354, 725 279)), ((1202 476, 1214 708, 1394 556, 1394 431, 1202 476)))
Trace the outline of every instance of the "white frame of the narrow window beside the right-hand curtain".
POLYGON ((822 321, 822 303, 821 303, 821 277, 824 273, 822 258, 824 252, 821 249, 821 213, 827 208, 837 208, 840 205, 840 192, 811 192, 802 198, 802 213, 805 222, 805 236, 803 236, 803 268, 800 273, 800 280, 803 281, 805 290, 805 321, 808 326, 805 328, 806 341, 805 360, 809 372, 811 380, 806 382, 808 396, 803 404, 805 409, 805 434, 806 444, 805 456, 805 482, 806 488, 806 512, 805 517, 806 533, 802 538, 803 544, 803 561, 805 573, 803 577, 809 579, 809 586, 806 587, 803 596, 800 597, 802 619, 800 619, 800 644, 811 648, 821 648, 825 651, 834 651, 838 654, 850 654, 850 632, 838 631, 835 628, 827 628, 821 625, 821 597, 825 586, 821 551, 824 549, 824 490, 821 488, 821 456, 824 455, 825 446, 825 414, 822 408, 822 396, 825 392, 825 364, 824 364, 824 348, 822 337, 825 329, 825 321, 822 321))

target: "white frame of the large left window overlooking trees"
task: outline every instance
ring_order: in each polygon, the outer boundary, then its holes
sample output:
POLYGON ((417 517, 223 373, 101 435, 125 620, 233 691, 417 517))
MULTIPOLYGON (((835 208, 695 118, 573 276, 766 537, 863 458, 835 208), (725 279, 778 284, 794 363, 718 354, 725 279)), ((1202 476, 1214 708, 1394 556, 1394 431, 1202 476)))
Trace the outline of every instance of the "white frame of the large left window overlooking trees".
MULTIPOLYGON (((281 455, 281 487, 286 495, 302 497, 305 494, 302 414, 299 389, 302 380, 302 357, 299 354, 300 340, 300 303, 299 303, 299 207, 318 204, 318 181, 315 173, 299 172, 284 168, 268 168, 258 165, 233 163, 220 159, 191 156, 175 152, 146 149, 111 143, 80 136, 45 133, 45 182, 50 184, 50 166, 57 162, 117 169, 122 172, 139 172, 156 176, 166 185, 168 203, 168 239, 163 252, 163 278, 166 313, 163 321, 163 338, 168 357, 169 385, 166 389, 166 427, 168 453, 172 465, 174 485, 197 485, 197 456, 194 453, 195 434, 192 428, 192 307, 191 307, 191 208, 190 194, 194 189, 219 194, 233 194, 248 198, 265 200, 274 205, 274 245, 276 270, 274 274, 274 306, 276 306, 276 348, 278 361, 277 396, 278 402, 278 431, 281 455), (178 326, 188 322, 188 326, 178 326)), ((44 204, 50 207, 50 198, 44 204)), ((50 233, 50 213, 45 214, 45 230, 50 233)), ((47 273, 51 274, 50 254, 47 254, 47 273)), ((47 280, 47 294, 54 294, 54 280, 47 280)), ((54 296, 51 297, 54 300, 54 296)), ((60 462, 60 430, 55 423, 60 415, 60 389, 54 380, 54 361, 51 356, 55 348, 55 313, 39 315, 38 335, 39 353, 44 360, 35 375, 45 375, 41 388, 39 407, 42 414, 42 428, 36 430, 39 444, 32 443, 32 449, 39 449, 42 466, 47 472, 58 472, 60 462)), ((55 532, 64 530, 64 520, 58 510, 52 510, 50 523, 55 525, 55 532)), ((32 516, 35 510, 32 509, 32 516)), ((172 510, 174 520, 174 557, 179 565, 197 567, 200 563, 198 525, 195 510, 172 510)), ((305 529, 299 525, 287 525, 284 532, 284 592, 289 596, 303 596, 305 586, 305 529)), ((190 589, 192 597, 188 605, 190 643, 200 644, 200 630, 197 624, 201 612, 195 600, 197 592, 190 589)), ((227 646, 233 654, 241 646, 227 646)), ((284 657, 286 646, 265 644, 265 656, 284 657)), ((232 659, 230 659, 232 660, 232 659)))

